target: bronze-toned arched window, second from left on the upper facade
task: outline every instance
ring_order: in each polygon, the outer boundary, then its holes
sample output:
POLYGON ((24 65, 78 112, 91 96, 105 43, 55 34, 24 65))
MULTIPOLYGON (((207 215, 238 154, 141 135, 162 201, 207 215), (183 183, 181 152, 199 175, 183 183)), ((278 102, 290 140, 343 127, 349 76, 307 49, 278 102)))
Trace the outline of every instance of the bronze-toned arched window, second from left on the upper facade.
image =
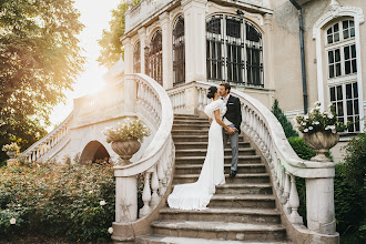
POLYGON ((146 73, 163 85, 163 52, 162 52, 162 33, 160 30, 153 34, 150 47, 145 50, 148 62, 146 73))

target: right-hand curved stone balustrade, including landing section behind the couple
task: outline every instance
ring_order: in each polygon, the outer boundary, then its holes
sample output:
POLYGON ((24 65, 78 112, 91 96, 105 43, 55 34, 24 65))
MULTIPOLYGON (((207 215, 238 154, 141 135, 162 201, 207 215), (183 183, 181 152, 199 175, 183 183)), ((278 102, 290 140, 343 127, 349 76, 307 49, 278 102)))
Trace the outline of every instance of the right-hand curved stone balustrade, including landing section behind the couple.
MULTIPOLYGON (((213 84, 207 82, 192 82, 173 89, 170 95, 173 101, 181 101, 176 98, 176 94, 182 94, 180 90, 195 87, 197 95, 195 108, 202 111, 209 102, 206 94, 211 85, 213 84)), ((293 230, 288 234, 293 238, 301 235, 301 240, 308 240, 309 236, 317 235, 319 240, 336 242, 338 234, 335 228, 333 187, 335 164, 299 159, 289 145, 282 125, 266 106, 241 91, 233 89, 231 93, 240 98, 242 103, 242 131, 257 145, 268 163, 279 206, 286 215, 285 221, 293 230), (295 176, 306 180, 307 228, 297 212, 299 197, 295 176)), ((179 108, 186 105, 187 101, 179 108)), ((174 111, 179 112, 179 110, 174 111)))

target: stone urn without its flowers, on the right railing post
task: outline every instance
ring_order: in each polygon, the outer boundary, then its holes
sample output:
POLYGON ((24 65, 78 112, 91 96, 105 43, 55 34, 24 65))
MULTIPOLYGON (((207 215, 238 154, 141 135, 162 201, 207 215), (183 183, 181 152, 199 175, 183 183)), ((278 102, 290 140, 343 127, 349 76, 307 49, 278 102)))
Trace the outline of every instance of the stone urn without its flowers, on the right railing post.
POLYGON ((304 133, 304 142, 314 150, 316 153, 313 156, 312 161, 328 162, 329 159, 326 157, 326 153, 329 152, 329 149, 335 146, 339 141, 338 133, 329 132, 313 132, 304 133))

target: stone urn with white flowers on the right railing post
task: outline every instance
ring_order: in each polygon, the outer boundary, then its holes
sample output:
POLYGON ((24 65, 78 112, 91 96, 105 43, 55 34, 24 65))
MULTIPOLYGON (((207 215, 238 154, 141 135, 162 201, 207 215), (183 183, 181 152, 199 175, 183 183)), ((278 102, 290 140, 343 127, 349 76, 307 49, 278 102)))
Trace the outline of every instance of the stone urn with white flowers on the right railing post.
POLYGON ((337 120, 335 108, 331 105, 329 111, 321 112, 319 102, 306 115, 296 115, 295 121, 304 142, 316 153, 312 161, 329 161, 325 154, 337 144, 338 132, 347 130, 347 125, 337 120))

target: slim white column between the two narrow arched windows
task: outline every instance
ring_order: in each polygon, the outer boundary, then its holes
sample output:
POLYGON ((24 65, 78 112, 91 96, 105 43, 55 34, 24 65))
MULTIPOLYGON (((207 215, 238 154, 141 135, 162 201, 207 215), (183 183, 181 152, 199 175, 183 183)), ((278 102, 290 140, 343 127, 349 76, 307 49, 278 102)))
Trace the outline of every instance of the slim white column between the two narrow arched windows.
POLYGON ((173 45, 169 12, 163 12, 161 16, 159 16, 159 19, 160 26, 162 28, 163 87, 166 90, 173 88, 173 45))

